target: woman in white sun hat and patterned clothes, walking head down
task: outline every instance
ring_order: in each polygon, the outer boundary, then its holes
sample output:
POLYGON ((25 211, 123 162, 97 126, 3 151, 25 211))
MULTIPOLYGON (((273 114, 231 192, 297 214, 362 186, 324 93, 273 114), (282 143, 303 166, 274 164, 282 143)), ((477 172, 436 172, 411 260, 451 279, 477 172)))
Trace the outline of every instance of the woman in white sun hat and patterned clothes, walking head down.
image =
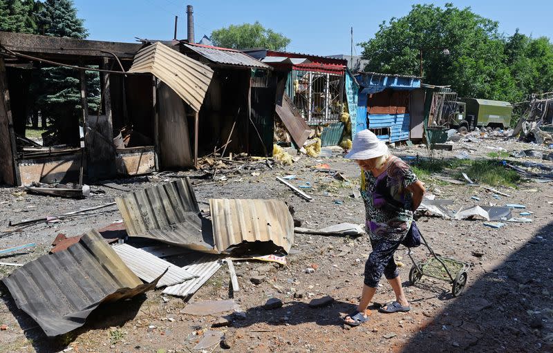
POLYGON ((388 146, 368 130, 359 131, 353 149, 346 158, 355 160, 362 169, 361 194, 365 204, 366 227, 373 252, 365 264, 364 286, 357 310, 344 323, 357 326, 368 321, 366 309, 375 295, 382 274, 395 293, 395 301, 379 312, 408 312, 394 252, 413 222, 413 211, 424 195, 424 187, 409 165, 388 153, 388 146))

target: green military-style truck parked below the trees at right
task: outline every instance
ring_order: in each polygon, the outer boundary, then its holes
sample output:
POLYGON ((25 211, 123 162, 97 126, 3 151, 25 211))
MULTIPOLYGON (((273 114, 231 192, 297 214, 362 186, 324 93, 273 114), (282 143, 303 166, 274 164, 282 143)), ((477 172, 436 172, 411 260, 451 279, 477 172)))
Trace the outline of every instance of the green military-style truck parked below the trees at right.
POLYGON ((474 130, 476 126, 508 128, 513 106, 509 102, 490 99, 459 98, 450 125, 459 132, 474 130))

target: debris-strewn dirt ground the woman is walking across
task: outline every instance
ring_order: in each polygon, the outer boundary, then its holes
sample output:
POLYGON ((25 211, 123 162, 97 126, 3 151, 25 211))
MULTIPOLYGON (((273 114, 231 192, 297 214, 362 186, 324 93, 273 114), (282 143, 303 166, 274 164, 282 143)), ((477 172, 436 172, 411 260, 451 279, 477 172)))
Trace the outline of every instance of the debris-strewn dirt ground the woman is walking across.
MULTIPOLYGON (((509 142, 510 144, 511 142, 509 142)), ((480 144, 471 157, 489 153, 480 144)), ((502 146, 494 144, 494 146, 502 146)), ((510 146, 510 145, 509 145, 510 146)), ((518 148, 514 145, 512 149, 518 148)), ((397 155, 424 155, 426 149, 394 150, 397 155)), ((439 152, 448 157, 459 151, 439 152)), ((360 198, 352 197, 358 189, 359 170, 353 162, 335 155, 332 158, 301 158, 292 166, 273 170, 229 174, 227 181, 205 184, 193 179, 200 207, 208 208, 209 198, 281 198, 292 205, 294 218, 303 227, 319 228, 339 222, 364 223, 360 198), (309 166, 328 163, 344 171, 349 182, 337 181, 326 173, 311 171, 309 166), (315 200, 306 202, 275 180, 275 176, 294 174, 295 185, 309 182, 315 200)), ((197 172, 190 173, 198 175, 197 172)), ((121 180, 124 187, 142 189, 170 180, 163 175, 121 180)), ((482 220, 446 220, 420 218, 419 227, 435 252, 465 261, 469 269, 465 293, 453 298, 451 285, 423 277, 409 283, 411 260, 406 249, 396 252, 400 276, 411 300, 411 312, 379 314, 371 310, 371 321, 353 329, 341 324, 340 316, 357 304, 362 286, 364 263, 371 252, 367 236, 310 236, 296 234, 295 245, 287 257, 288 265, 236 262, 240 292, 234 299, 242 314, 224 313, 230 327, 211 329, 218 316, 181 314, 187 305, 181 298, 167 297, 160 290, 127 302, 97 309, 84 327, 71 334, 47 339, 40 327, 15 307, 6 287, 1 288, 0 352, 190 352, 205 330, 225 332, 230 352, 551 352, 553 350, 553 190, 548 183, 525 182, 518 189, 502 189, 511 197, 498 200, 480 187, 444 184, 427 180, 427 189, 437 198, 453 200, 451 209, 467 204, 524 204, 533 214, 530 223, 512 223, 501 229, 485 227, 482 220), (480 200, 474 200, 477 196, 480 200), (306 273, 306 268, 315 268, 306 273), (250 278, 265 274, 254 285, 250 278), (308 303, 313 298, 332 296, 334 302, 319 308, 308 303), (269 298, 279 298, 283 306, 266 310, 269 298)), ((93 188, 94 189, 94 188, 93 188)), ((18 189, 0 189, 0 227, 8 220, 19 221, 45 215, 61 214, 111 202, 122 193, 98 187, 86 200, 66 200, 18 193, 18 189)), ((513 211, 518 216, 518 211, 513 211)), ((57 233, 75 236, 93 227, 109 225, 120 219, 115 207, 86 218, 28 227, 19 233, 0 238, 0 249, 27 242, 37 247, 0 261, 26 263, 50 249, 57 233)), ((428 257, 423 247, 414 250, 418 260, 428 257)), ((6 276, 12 267, 0 267, 6 276)), ((229 276, 222 267, 200 288, 189 303, 229 298, 229 276)), ((393 299, 391 287, 381 281, 375 303, 393 299)), ((205 352, 219 352, 216 345, 205 352)), ((199 352, 199 351, 198 351, 199 352)))

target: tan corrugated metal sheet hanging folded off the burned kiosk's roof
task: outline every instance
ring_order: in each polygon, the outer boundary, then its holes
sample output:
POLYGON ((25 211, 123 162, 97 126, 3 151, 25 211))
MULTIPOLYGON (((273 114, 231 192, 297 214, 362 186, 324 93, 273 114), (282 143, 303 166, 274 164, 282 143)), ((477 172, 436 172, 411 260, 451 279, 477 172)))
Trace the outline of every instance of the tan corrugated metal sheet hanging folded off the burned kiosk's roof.
POLYGON ((136 53, 129 73, 151 73, 173 88, 194 111, 200 111, 213 70, 157 42, 136 53))

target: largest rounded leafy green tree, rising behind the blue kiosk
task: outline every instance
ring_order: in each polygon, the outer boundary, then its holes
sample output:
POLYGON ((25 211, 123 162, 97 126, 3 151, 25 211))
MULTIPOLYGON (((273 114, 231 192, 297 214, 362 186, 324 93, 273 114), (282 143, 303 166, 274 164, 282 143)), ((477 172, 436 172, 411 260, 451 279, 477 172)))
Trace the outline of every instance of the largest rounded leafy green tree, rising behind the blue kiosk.
POLYGON ((447 3, 443 8, 414 5, 408 15, 383 22, 361 46, 370 61, 367 71, 418 76, 422 49, 424 82, 451 84, 461 97, 512 101, 519 93, 504 40, 496 21, 447 3))

